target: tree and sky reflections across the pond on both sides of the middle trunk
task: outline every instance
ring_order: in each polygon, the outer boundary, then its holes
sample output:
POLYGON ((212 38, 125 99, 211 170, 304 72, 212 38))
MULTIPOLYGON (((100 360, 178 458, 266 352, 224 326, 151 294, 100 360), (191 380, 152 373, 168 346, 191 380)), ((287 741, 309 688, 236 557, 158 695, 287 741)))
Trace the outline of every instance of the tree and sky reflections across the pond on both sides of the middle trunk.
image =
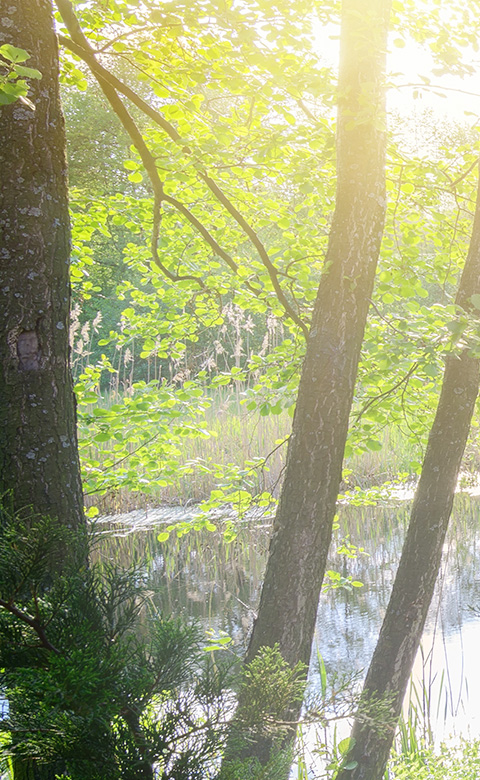
MULTIPOLYGON (((457 497, 427 630, 436 624, 450 633, 462 622, 478 619, 469 606, 480 603, 479 505, 478 499, 457 497)), ((368 555, 338 556, 332 545, 328 568, 360 580, 364 587, 331 590, 321 597, 316 643, 329 670, 347 673, 369 662, 402 548, 407 508, 340 509, 335 542, 348 536, 368 555)), ((245 525, 229 544, 220 531, 193 531, 180 539, 171 534, 160 543, 159 530, 147 524, 135 532, 109 534, 97 555, 114 557, 123 565, 146 561, 153 599, 162 612, 187 614, 226 631, 241 651, 259 598, 268 530, 258 522, 245 525)))

